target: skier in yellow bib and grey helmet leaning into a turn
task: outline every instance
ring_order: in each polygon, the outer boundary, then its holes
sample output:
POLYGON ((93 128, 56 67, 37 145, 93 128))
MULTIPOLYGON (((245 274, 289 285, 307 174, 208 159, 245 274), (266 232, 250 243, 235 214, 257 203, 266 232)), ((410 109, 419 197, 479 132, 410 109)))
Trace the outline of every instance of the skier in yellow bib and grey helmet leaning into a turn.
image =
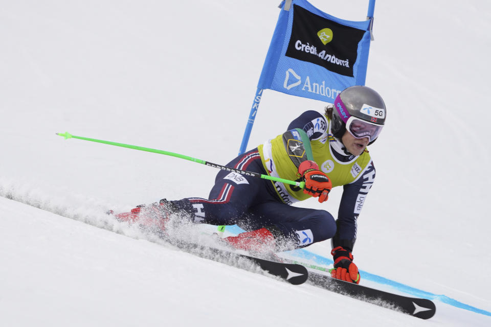
POLYGON ((239 155, 228 166, 290 180, 305 188, 220 171, 209 198, 166 199, 116 215, 120 220, 153 224, 165 230, 169 219, 213 225, 237 224, 246 232, 224 240, 237 249, 280 251, 331 239, 334 278, 360 283, 351 254, 356 219, 374 178, 375 168, 366 147, 380 134, 386 119, 385 103, 366 86, 343 90, 325 113, 305 111, 287 131, 239 155), (291 204, 317 197, 327 201, 333 187, 343 185, 338 219, 327 211, 291 204), (157 219, 155 219, 157 218, 157 219))

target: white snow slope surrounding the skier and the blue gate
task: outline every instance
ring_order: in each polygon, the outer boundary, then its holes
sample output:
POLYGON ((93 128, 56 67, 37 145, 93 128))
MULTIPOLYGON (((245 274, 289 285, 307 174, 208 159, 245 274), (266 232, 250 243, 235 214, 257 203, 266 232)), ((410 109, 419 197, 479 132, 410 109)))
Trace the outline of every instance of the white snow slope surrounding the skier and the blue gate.
MULTIPOLYGON (((311 3, 351 20, 365 19, 368 6, 311 3)), ((435 317, 422 321, 291 286, 177 251, 101 214, 207 197, 217 171, 55 132, 226 164, 239 149, 277 5, 0 6, 1 325, 491 324, 438 300, 435 317)), ((479 0, 377 1, 366 85, 384 97, 388 121, 369 148, 377 177, 354 249, 364 271, 487 311, 490 12, 479 0)), ((249 149, 324 105, 264 91, 249 149)), ((336 215, 341 192, 299 205, 336 215)), ((308 249, 329 256, 330 244, 308 249)))

